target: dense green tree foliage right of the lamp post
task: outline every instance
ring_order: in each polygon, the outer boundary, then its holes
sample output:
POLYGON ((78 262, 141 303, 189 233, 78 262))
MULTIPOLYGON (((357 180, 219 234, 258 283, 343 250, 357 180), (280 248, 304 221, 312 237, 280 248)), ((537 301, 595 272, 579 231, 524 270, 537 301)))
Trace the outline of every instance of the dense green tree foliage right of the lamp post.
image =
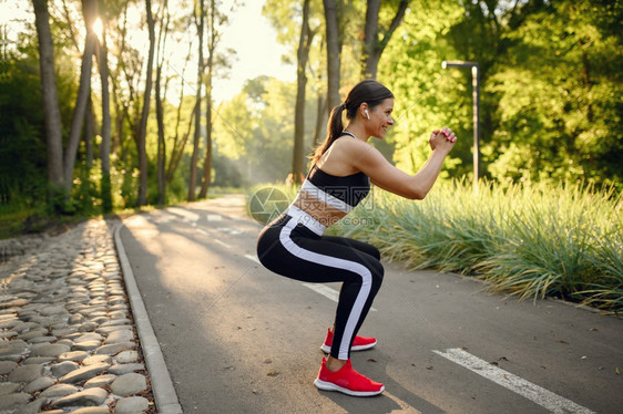
POLYGON ((622 35, 609 28, 622 15, 612 8, 554 2, 504 34, 508 51, 489 85, 499 100, 487 148, 492 176, 621 182, 622 35))

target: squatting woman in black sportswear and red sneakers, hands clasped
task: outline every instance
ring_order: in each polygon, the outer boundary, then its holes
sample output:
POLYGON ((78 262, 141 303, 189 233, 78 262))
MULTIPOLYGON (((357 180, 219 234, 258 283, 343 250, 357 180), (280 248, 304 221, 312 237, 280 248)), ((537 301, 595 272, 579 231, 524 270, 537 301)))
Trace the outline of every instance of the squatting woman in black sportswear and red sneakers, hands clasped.
POLYGON ((385 386, 361 375, 350 364, 350 351, 369 349, 374 338, 357 335, 384 276, 380 253, 366 242, 323 236, 366 197, 370 182, 388 192, 422 199, 435 184, 457 137, 450 130, 430 136, 432 155, 413 176, 394 167, 367 141, 382 138, 394 125, 394 95, 374 80, 353 87, 346 101, 333 108, 325 142, 312 157, 312 169, 296 199, 257 240, 257 256, 267 269, 306 282, 341 282, 333 330, 321 349, 320 390, 348 395, 380 394, 385 386), (343 112, 349 121, 343 125, 343 112))

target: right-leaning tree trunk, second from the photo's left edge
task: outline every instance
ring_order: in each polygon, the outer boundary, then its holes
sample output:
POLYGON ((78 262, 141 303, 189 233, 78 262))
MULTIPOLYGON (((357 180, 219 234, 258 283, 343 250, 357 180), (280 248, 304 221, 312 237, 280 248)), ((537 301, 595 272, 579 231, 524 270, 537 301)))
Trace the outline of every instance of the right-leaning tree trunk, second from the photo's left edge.
POLYGON ((86 37, 84 39, 84 51, 82 53, 82 68, 80 70, 80 85, 78 86, 78 97, 75 99, 75 107, 71 118, 71 127, 69 131, 69 139, 64 153, 63 175, 65 192, 71 192, 73 182, 73 167, 75 165, 75 156, 78 145, 80 144, 80 135, 86 113, 86 106, 91 94, 91 69, 93 68, 93 53, 98 37, 93 32, 93 21, 98 15, 98 3, 95 0, 82 1, 82 14, 84 15, 84 24, 86 27, 86 37))

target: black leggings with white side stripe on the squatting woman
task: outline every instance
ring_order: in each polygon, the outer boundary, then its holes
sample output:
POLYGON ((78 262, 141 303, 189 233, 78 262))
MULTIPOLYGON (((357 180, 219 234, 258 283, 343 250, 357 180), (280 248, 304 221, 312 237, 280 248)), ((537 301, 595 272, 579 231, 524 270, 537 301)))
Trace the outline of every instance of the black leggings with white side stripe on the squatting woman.
POLYGON ((330 354, 349 359, 355 335, 382 282, 378 249, 362 241, 318 235, 284 215, 262 230, 257 257, 267 269, 292 279, 343 282, 330 354))

